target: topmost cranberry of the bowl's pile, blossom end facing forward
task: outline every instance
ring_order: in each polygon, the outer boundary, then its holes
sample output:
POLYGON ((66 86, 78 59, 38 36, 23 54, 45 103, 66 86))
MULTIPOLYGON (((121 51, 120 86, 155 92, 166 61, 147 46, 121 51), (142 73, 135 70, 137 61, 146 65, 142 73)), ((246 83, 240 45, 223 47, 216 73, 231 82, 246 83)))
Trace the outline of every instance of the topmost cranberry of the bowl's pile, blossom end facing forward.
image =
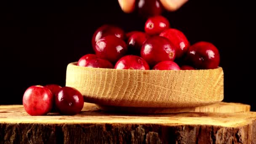
POLYGON ((145 32, 149 35, 159 35, 163 30, 168 29, 170 23, 163 16, 150 17, 145 23, 145 32))

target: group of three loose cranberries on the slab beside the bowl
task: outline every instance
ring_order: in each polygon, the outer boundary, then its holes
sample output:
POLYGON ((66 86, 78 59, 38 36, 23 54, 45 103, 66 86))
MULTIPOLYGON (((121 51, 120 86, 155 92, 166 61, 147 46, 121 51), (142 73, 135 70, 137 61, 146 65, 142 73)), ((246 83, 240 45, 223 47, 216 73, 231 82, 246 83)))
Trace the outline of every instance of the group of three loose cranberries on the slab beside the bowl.
POLYGON ((23 95, 23 107, 32 116, 49 112, 76 115, 83 109, 83 104, 83 96, 77 89, 56 84, 33 85, 23 95))

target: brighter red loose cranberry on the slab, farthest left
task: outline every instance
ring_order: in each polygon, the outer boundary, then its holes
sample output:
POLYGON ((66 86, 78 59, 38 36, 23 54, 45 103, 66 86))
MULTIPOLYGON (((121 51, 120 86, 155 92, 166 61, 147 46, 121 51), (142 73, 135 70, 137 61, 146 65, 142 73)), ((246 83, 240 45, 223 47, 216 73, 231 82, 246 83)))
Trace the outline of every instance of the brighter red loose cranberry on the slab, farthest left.
POLYGON ((53 106, 53 94, 41 85, 33 85, 23 95, 23 106, 29 115, 46 115, 53 106))

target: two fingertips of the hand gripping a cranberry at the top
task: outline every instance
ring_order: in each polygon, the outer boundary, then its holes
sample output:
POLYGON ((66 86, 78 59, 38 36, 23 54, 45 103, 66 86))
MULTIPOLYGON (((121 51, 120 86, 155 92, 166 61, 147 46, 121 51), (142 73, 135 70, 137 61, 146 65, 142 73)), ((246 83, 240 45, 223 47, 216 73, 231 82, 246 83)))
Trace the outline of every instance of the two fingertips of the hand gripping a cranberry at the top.
MULTIPOLYGON (((118 0, 120 7, 125 13, 131 13, 134 10, 136 0, 118 0)), ((188 0, 160 0, 163 7, 168 11, 176 11, 188 0)))

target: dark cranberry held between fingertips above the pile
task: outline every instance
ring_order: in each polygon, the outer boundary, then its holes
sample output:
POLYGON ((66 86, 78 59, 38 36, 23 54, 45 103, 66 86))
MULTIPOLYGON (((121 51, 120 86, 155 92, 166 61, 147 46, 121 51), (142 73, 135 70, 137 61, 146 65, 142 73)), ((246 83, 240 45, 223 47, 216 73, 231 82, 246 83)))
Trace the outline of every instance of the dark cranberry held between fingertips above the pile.
POLYGON ((159 0, 136 0, 135 6, 137 13, 144 18, 161 15, 164 10, 159 0))

